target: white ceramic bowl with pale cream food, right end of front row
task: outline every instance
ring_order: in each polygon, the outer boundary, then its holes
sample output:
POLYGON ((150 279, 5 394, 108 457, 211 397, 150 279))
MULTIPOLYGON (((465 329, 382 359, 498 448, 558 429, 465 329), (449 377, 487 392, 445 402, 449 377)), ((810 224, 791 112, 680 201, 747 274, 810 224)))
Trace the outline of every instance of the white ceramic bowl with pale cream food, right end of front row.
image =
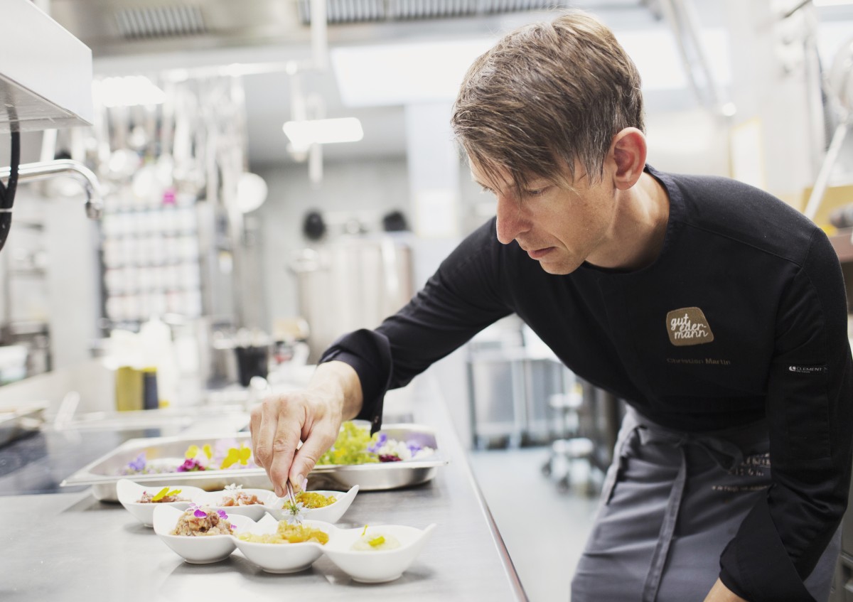
POLYGON ((435 524, 420 530, 401 524, 382 524, 368 527, 368 535, 392 535, 400 547, 390 550, 353 550, 352 545, 362 537, 364 529, 336 530, 324 546, 323 553, 340 570, 357 582, 384 583, 403 575, 427 543, 435 524))

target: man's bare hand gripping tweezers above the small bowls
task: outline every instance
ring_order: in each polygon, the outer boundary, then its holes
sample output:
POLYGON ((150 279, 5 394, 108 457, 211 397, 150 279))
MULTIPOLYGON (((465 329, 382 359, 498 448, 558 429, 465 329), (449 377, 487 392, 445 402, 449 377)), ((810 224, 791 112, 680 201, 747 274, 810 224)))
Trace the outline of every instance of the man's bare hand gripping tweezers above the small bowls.
POLYGON ((332 447, 341 421, 354 418, 361 407, 356 371, 344 362, 326 362, 317 366, 304 390, 267 397, 252 408, 252 454, 276 495, 284 497, 288 478, 305 489, 308 473, 332 447))

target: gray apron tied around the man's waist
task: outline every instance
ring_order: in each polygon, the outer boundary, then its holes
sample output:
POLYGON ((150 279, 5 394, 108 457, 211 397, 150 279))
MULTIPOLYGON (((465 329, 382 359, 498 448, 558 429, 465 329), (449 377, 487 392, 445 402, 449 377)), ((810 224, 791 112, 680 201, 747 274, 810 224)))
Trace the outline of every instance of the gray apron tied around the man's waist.
MULTIPOLYGON (((691 435, 628 407, 572 602, 701 602, 717 581, 723 548, 769 485, 766 423, 691 435)), ((829 596, 840 535, 804 582, 820 602, 829 596)))

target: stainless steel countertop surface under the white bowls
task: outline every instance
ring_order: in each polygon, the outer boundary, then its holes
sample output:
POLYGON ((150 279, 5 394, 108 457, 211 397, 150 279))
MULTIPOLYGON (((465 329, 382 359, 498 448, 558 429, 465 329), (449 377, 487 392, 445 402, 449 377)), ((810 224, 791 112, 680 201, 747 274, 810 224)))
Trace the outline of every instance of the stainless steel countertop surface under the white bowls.
POLYGON ((415 385, 415 420, 438 431, 450 463, 414 488, 359 493, 339 523, 438 524, 397 581, 353 582, 325 557, 294 575, 264 573, 239 551, 217 564, 187 564, 122 506, 96 501, 85 490, 0 497, 0 599, 525 599, 437 388, 424 377, 415 385))

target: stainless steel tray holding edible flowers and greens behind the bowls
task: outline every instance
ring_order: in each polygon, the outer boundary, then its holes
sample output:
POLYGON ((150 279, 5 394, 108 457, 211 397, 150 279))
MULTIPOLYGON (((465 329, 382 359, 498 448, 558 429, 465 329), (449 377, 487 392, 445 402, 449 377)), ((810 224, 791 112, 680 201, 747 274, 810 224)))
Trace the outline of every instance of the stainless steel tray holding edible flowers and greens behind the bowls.
MULTIPOLYGON (((436 453, 424 460, 404 460, 380 464, 324 465, 316 466, 309 475, 310 489, 329 487, 349 489, 358 485, 363 491, 397 489, 426 483, 435 476, 438 466, 447 464, 441 457, 436 443, 435 433, 423 425, 396 424, 382 428, 388 437, 398 441, 418 443, 436 450, 436 453)), ((246 488, 272 489, 270 478, 262 468, 234 468, 222 471, 200 472, 162 472, 156 474, 119 474, 121 469, 136 459, 142 451, 148 461, 164 458, 183 459, 189 445, 202 446, 210 443, 216 446, 218 441, 229 440, 251 447, 252 437, 247 432, 229 433, 211 436, 148 437, 131 439, 101 458, 84 466, 78 472, 62 481, 61 486, 91 485, 92 494, 102 501, 118 501, 115 483, 121 478, 130 478, 136 483, 157 483, 162 485, 192 485, 207 491, 224 489, 230 483, 246 488)))

